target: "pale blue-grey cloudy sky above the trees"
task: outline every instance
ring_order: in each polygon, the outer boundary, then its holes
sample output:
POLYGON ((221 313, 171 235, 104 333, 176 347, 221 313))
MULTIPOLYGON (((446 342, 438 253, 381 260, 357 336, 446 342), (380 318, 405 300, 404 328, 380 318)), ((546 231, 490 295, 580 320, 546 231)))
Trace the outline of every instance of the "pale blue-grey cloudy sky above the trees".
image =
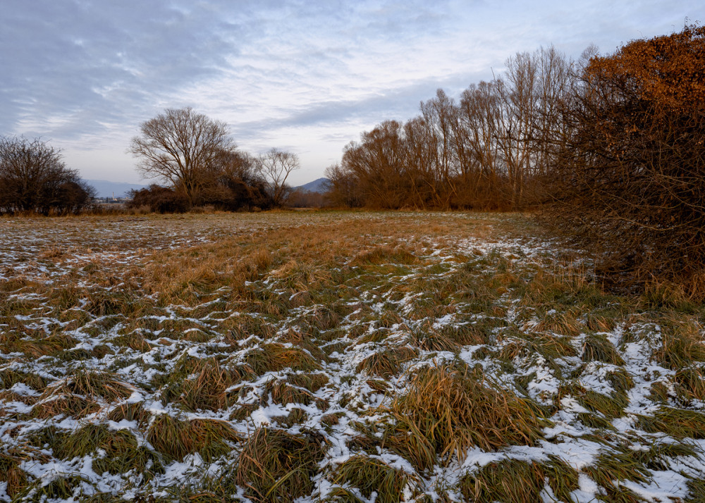
POLYGON ((705 22, 702 0, 3 0, 0 135, 49 140, 85 178, 140 182, 130 137, 192 106, 247 151, 298 154, 298 185, 517 51, 611 52, 686 20, 705 22))

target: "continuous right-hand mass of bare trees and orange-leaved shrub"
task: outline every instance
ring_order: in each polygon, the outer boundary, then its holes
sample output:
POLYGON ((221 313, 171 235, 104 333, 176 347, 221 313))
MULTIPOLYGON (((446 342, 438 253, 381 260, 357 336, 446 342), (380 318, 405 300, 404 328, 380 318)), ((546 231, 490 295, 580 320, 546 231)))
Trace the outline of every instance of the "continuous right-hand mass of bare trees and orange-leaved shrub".
POLYGON ((705 296, 704 27, 580 61, 520 53, 420 110, 345 147, 326 171, 333 204, 539 209, 596 247, 606 278, 705 296))

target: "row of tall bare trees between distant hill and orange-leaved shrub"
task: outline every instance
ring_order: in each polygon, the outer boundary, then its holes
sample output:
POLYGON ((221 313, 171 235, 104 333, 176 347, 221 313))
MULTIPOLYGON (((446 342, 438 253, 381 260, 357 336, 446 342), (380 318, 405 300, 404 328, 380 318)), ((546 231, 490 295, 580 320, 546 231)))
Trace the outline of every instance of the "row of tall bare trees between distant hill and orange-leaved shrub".
POLYGON ((551 46, 509 58, 501 77, 470 85, 458 101, 439 89, 419 116, 385 120, 345 147, 326 170, 331 199, 381 209, 534 204, 575 75, 575 63, 551 46))

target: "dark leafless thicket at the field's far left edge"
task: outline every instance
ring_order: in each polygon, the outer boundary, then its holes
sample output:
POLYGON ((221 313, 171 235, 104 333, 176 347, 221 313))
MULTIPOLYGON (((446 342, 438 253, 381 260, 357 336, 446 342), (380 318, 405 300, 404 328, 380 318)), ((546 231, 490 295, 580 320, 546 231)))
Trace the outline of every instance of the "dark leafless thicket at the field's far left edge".
POLYGON ((0 137, 0 214, 80 213, 95 190, 41 139, 0 137))

